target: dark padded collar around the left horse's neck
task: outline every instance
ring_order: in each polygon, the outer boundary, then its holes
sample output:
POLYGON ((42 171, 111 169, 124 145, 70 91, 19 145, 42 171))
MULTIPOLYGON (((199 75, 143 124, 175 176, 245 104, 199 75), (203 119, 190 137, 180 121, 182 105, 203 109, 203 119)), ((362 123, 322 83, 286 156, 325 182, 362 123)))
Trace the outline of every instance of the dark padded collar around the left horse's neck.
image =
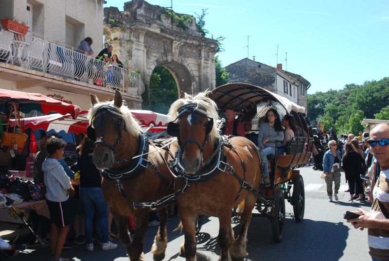
POLYGON ((146 137, 141 132, 139 133, 139 143, 140 146, 139 146, 138 153, 136 155, 136 156, 140 155, 139 159, 134 160, 130 165, 125 167, 123 170, 112 170, 109 168, 102 170, 101 173, 104 176, 104 178, 108 180, 126 180, 140 174, 145 169, 147 169, 150 162, 150 160, 147 159, 149 146, 146 137))

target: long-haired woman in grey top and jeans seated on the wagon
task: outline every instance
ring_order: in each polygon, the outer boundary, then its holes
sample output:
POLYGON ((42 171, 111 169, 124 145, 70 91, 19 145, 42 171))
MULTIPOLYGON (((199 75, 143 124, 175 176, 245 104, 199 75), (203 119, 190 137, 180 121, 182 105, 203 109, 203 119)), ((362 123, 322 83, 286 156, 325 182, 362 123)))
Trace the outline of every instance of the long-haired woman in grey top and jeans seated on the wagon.
POLYGON ((267 155, 276 154, 277 141, 283 140, 283 127, 275 109, 269 109, 266 113, 265 122, 261 124, 258 132, 258 149, 264 160, 265 186, 270 187, 269 168, 267 155))

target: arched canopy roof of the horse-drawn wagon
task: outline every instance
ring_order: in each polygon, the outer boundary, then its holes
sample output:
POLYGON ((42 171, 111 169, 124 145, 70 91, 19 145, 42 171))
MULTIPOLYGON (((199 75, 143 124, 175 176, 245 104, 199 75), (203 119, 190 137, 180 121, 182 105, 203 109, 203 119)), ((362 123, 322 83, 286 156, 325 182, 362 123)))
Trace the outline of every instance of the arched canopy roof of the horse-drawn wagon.
POLYGON ((278 102, 287 113, 306 113, 305 107, 289 99, 272 93, 262 87, 246 83, 230 83, 212 90, 210 98, 218 109, 224 111, 227 104, 233 104, 243 119, 251 119, 257 114, 257 104, 278 102), (255 109, 254 109, 255 108, 255 109))

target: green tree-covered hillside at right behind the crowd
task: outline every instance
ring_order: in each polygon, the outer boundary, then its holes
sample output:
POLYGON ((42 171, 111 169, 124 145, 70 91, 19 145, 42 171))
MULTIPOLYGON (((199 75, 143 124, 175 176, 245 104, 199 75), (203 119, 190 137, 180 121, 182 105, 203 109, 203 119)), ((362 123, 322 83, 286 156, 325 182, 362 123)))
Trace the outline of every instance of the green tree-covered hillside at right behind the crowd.
POLYGON ((307 111, 313 124, 321 117, 324 130, 335 127, 337 133, 363 131, 361 122, 368 119, 389 119, 389 78, 366 81, 363 85, 348 84, 342 90, 308 94, 307 111))

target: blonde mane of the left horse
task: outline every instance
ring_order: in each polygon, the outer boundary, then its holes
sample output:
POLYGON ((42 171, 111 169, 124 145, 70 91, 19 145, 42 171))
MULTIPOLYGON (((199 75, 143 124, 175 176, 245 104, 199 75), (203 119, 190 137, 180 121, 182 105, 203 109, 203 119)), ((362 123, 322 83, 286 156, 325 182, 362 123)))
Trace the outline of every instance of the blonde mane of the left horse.
MULTIPOLYGON (((93 116, 96 114, 97 110, 101 106, 104 106, 104 105, 114 107, 115 109, 120 111, 120 113, 122 113, 122 115, 118 114, 118 116, 123 117, 123 119, 125 121, 126 131, 129 132, 130 135, 138 137, 139 131, 141 131, 140 122, 138 120, 136 120, 134 118, 134 116, 132 116, 130 110, 128 109, 128 107, 124 103, 123 103, 122 107, 120 107, 120 108, 114 104, 114 101, 99 102, 97 104, 94 104, 88 111, 89 124, 90 124, 93 116)), ((115 113, 115 112, 113 112, 113 113, 115 113)))

